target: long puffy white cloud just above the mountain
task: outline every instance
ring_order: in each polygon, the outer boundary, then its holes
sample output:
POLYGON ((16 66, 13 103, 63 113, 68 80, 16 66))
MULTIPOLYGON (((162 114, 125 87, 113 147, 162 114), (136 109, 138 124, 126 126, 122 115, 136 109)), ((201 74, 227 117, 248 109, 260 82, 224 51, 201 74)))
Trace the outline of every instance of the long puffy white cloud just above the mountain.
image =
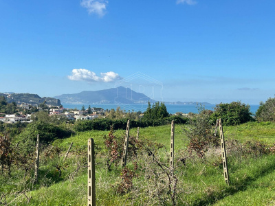
POLYGON ((72 76, 68 76, 68 79, 86 82, 113 82, 121 79, 118 73, 114 73, 113 71, 100 73, 100 76, 96 76, 94 71, 89 71, 88 69, 73 69, 72 76))

